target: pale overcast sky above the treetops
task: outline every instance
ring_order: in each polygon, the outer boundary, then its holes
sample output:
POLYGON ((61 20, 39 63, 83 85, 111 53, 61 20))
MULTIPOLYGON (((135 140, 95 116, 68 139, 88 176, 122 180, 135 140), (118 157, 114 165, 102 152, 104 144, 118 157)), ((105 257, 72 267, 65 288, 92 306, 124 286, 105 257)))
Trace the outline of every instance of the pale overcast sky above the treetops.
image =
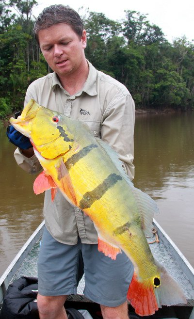
POLYGON ((148 14, 150 24, 156 24, 162 29, 166 39, 186 36, 188 41, 194 39, 194 0, 37 0, 38 6, 34 7, 33 15, 38 14, 51 4, 69 5, 78 11, 83 6, 90 11, 102 12, 113 20, 125 18, 124 10, 134 10, 141 14, 148 14))

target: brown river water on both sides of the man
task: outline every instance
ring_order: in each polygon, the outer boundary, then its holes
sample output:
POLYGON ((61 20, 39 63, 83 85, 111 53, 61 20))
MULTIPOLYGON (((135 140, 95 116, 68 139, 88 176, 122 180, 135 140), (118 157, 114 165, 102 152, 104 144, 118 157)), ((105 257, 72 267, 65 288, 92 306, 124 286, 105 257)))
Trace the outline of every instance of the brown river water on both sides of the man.
MULTIPOLYGON (((134 185, 152 196, 155 219, 194 267, 194 112, 136 116, 134 185)), ((0 128, 0 275, 43 220, 36 175, 23 172, 0 128)))

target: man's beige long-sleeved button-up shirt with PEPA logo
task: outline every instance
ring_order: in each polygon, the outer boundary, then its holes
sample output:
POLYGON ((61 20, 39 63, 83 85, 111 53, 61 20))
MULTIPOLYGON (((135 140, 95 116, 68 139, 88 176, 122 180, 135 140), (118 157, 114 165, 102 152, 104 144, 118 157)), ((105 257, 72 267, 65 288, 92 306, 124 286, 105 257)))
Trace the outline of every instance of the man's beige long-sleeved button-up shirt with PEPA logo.
MULTIPOLYGON (((80 92, 70 96, 62 87, 56 73, 35 80, 29 86, 25 103, 31 98, 38 104, 85 122, 94 136, 100 137, 118 152, 129 178, 134 177, 133 132, 134 102, 127 88, 110 76, 97 71, 89 64, 89 75, 80 92)), ((29 173, 41 166, 33 156, 26 158, 17 148, 17 164, 29 173)), ((50 191, 45 192, 44 216, 47 229, 58 241, 76 244, 97 243, 93 222, 82 211, 69 204, 60 191, 51 202, 50 191)))

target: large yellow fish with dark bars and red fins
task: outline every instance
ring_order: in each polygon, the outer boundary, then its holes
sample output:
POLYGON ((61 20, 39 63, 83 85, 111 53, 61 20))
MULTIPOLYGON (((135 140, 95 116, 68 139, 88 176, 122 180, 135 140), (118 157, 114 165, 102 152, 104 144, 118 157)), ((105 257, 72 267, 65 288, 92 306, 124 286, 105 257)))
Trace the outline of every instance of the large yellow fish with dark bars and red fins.
MULTIPOLYGON (((98 250, 116 258, 125 252, 134 265, 127 298, 140 316, 163 305, 186 303, 182 289, 151 254, 146 235, 152 228, 155 202, 135 188, 118 155, 93 137, 81 121, 50 111, 31 100, 11 124, 31 139, 43 172, 34 192, 57 188, 94 222, 98 250)), ((121 270, 122 271, 122 270, 121 270)))

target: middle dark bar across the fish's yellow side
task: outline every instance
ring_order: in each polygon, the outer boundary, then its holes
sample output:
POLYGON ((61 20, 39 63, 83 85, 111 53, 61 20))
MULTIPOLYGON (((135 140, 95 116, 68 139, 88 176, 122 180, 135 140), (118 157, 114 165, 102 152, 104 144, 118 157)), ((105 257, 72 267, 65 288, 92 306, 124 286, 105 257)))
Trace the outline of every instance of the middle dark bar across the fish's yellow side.
POLYGON ((93 191, 87 191, 83 198, 80 201, 79 207, 81 209, 89 208, 92 204, 99 200, 106 191, 108 191, 111 187, 113 187, 118 180, 122 180, 120 175, 116 175, 115 173, 110 174, 104 181, 99 184, 93 191))

